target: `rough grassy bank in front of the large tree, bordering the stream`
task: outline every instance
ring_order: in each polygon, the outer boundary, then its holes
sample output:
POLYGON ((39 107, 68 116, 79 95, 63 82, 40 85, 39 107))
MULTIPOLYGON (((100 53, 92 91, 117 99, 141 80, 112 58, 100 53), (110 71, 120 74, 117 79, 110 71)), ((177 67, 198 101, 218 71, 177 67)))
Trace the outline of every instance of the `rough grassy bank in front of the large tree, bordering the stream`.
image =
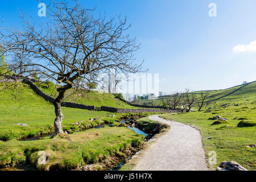
POLYGON ((107 127, 71 134, 69 138, 0 142, 0 166, 23 162, 42 170, 75 169, 113 156, 124 157, 125 150, 141 146, 144 136, 126 127, 107 127), (46 165, 38 164, 39 151, 49 156, 46 165))

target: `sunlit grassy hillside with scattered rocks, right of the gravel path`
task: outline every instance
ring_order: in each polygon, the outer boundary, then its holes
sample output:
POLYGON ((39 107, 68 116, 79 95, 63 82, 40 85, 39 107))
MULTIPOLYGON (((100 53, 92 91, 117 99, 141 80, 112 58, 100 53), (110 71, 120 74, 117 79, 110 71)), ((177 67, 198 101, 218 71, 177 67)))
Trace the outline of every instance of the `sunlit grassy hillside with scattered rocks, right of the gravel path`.
MULTIPOLYGON (((212 91, 212 98, 218 98, 236 88, 212 91)), ((211 102, 200 112, 163 115, 163 118, 194 125, 201 131, 206 154, 217 152, 217 164, 233 160, 250 170, 256 170, 256 82, 220 100, 211 102), (212 109, 208 110, 208 107, 212 109), (227 118, 227 122, 212 125, 216 120, 208 120, 215 115, 227 118), (250 126, 240 122, 250 123, 250 126), (240 123, 240 125, 238 125, 240 123), (243 126, 243 127, 241 127, 243 126), (207 137, 211 137, 207 139, 207 137)))

